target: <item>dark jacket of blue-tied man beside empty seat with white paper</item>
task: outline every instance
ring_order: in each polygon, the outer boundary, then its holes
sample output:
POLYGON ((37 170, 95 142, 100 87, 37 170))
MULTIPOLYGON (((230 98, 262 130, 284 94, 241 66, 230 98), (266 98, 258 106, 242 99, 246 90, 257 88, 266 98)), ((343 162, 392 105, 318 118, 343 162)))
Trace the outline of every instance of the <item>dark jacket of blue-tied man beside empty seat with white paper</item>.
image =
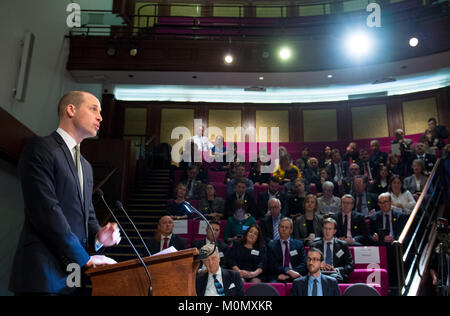
MULTIPOLYGON (((323 238, 314 242, 312 247, 315 247, 325 253, 323 238)), ((345 241, 334 238, 333 241, 333 267, 341 273, 344 282, 348 282, 348 276, 353 272, 353 259, 350 253, 350 248, 345 241), (341 251, 342 250, 342 251, 341 251), (337 254, 340 252, 341 256, 337 254)))

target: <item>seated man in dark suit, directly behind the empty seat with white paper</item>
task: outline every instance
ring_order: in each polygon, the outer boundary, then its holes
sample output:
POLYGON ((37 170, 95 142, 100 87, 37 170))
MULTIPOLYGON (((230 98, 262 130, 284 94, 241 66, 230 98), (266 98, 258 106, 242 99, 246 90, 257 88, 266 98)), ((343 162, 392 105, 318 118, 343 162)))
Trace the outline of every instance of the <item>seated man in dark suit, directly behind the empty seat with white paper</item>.
POLYGON ((350 194, 341 198, 341 212, 334 215, 337 222, 336 237, 351 246, 367 245, 369 233, 367 232, 365 217, 352 212, 355 199, 350 194))

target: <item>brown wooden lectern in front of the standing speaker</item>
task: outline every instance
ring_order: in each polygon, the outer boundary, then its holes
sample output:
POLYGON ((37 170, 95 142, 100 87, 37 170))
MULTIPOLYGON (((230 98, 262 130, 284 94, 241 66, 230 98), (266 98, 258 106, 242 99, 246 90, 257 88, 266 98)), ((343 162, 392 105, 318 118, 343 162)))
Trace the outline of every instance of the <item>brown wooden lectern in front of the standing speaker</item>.
MULTIPOLYGON (((197 296, 195 279, 198 249, 143 258, 150 272, 154 296, 197 296)), ((139 259, 91 268, 92 296, 147 296, 149 280, 139 259)))

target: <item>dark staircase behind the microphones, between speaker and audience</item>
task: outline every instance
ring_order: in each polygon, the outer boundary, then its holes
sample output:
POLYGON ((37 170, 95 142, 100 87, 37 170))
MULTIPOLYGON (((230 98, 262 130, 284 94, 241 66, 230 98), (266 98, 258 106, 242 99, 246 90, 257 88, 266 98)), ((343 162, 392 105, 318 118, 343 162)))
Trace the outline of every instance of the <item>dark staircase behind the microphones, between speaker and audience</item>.
MULTIPOLYGON (((140 183, 138 183, 135 192, 130 194, 126 210, 144 240, 153 237, 159 219, 166 213, 170 185, 169 170, 152 169, 147 171, 140 183)), ((118 220, 138 252, 143 257, 148 256, 139 240, 139 236, 134 231, 133 226, 125 214, 120 210, 116 212, 118 220)), ((107 248, 104 255, 113 258, 117 262, 136 259, 133 249, 123 234, 120 244, 107 248)))

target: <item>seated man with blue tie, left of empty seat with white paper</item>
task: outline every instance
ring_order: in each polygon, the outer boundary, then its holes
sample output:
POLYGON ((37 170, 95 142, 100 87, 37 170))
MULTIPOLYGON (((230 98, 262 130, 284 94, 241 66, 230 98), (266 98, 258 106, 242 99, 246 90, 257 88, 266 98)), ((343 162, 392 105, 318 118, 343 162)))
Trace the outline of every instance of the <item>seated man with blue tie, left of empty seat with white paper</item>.
POLYGON ((339 283, 348 282, 349 274, 353 272, 353 259, 345 241, 337 239, 337 223, 332 218, 325 218, 322 222, 323 239, 316 241, 312 247, 325 254, 323 273, 335 278, 339 283))

